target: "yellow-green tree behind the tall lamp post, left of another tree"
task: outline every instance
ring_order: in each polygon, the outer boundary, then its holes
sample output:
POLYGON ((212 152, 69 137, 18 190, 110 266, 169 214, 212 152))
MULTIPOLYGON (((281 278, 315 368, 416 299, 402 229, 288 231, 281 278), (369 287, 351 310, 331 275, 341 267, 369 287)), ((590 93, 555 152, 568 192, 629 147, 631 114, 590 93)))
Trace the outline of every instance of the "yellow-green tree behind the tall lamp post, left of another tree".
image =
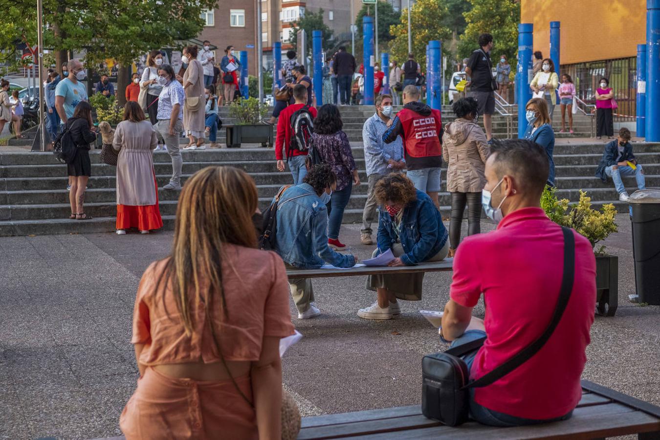
MULTIPOLYGON (((426 45, 430 40, 440 40, 442 53, 448 55, 448 42, 451 40, 451 30, 442 23, 449 15, 444 0, 417 0, 411 7, 411 28, 413 32, 413 53, 415 59, 426 70, 426 45)), ((390 33, 394 39, 389 43, 390 59, 395 59, 399 65, 408 59, 408 10, 401 12, 401 22, 391 26, 390 33)))

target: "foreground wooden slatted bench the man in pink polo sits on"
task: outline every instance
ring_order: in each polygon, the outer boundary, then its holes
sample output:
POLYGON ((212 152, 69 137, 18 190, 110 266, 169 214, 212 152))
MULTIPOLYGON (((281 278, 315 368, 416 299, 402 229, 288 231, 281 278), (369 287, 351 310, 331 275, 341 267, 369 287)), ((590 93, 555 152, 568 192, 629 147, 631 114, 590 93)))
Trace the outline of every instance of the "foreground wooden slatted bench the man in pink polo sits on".
POLYGON ((572 418, 521 427, 490 427, 469 422, 449 427, 422 415, 420 405, 306 417, 299 440, 340 439, 600 439, 638 434, 660 439, 660 407, 589 381, 572 418))

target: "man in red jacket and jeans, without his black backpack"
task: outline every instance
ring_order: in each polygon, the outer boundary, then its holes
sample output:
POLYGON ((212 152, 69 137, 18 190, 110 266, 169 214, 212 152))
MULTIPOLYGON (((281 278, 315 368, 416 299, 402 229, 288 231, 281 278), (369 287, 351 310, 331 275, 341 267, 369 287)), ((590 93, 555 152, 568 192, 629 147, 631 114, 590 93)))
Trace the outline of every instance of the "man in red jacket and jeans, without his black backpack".
MULTIPOLYGON (((282 154, 282 146, 284 146, 289 170, 293 176, 293 184, 299 185, 302 183, 302 179, 307 175, 307 168, 305 168, 307 151, 289 150, 291 138, 293 136, 291 117, 296 111, 307 105, 307 88, 303 84, 296 84, 293 88, 293 98, 296 102, 282 110, 279 119, 277 119, 275 158, 277 159, 277 170, 286 170, 286 166, 284 166, 284 155, 282 154)), ((309 110, 310 113, 312 113, 312 118, 315 118, 316 109, 314 107, 309 107, 309 110)))

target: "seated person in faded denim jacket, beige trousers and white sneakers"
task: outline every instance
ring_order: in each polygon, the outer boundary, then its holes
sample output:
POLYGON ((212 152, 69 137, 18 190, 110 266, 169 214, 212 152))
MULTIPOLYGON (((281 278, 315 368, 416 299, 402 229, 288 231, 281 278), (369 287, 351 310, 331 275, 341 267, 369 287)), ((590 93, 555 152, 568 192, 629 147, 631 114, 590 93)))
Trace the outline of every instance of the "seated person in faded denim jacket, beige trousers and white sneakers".
MULTIPOLYGON (((335 267, 353 267, 353 255, 343 255, 328 246, 328 213, 325 205, 337 187, 337 176, 328 164, 315 165, 303 183, 290 187, 277 205, 275 251, 286 267, 319 268, 325 263, 335 267)), ((298 309, 298 319, 321 314, 314 304, 311 278, 289 278, 291 296, 298 309)))

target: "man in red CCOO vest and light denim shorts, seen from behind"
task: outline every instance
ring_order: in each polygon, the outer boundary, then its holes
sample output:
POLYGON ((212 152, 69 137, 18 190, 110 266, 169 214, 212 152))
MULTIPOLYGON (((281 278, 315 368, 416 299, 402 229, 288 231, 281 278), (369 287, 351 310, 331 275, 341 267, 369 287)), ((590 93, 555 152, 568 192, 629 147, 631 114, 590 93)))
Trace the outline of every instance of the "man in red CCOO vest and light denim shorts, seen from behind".
POLYGON ((418 102, 419 90, 409 84, 403 88, 403 110, 387 121, 383 142, 403 139, 406 175, 419 191, 424 191, 437 208, 440 208, 440 166, 442 165, 442 120, 440 110, 432 110, 418 102))

